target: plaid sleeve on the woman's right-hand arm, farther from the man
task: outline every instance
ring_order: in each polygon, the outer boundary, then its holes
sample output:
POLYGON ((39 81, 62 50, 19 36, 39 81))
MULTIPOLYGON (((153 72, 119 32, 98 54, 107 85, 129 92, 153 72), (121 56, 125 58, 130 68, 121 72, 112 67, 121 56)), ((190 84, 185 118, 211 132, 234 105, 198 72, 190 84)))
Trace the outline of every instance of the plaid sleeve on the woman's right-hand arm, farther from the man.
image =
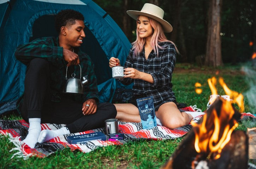
POLYGON ((176 51, 174 45, 170 45, 163 50, 161 70, 159 72, 150 73, 154 80, 154 87, 165 86, 170 83, 175 63, 176 51))

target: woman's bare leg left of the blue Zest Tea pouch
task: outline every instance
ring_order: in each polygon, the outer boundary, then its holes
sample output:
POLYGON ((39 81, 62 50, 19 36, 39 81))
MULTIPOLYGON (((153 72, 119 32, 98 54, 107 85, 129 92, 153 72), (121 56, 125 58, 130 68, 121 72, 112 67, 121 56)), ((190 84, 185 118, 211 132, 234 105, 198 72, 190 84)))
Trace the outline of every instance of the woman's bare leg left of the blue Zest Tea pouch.
POLYGON ((139 116, 139 109, 130 103, 114 104, 117 109, 117 116, 115 117, 122 122, 141 122, 139 116))

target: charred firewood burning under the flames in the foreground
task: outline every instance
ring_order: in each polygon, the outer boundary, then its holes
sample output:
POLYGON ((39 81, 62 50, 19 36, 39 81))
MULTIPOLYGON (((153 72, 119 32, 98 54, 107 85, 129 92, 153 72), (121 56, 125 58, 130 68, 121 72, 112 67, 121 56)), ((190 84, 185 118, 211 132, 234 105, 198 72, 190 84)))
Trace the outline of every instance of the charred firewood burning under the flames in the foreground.
MULTIPOLYGON (((223 99, 216 99, 207 110, 207 131, 214 128, 214 116, 212 111, 217 112, 218 118, 221 115, 223 99)), ((225 125, 234 125, 234 120, 240 119, 240 113, 234 109, 234 114, 230 121, 222 120, 220 131, 225 125)), ((228 115, 228 112, 227 112, 228 115)), ((199 122, 199 123, 202 123, 199 122)), ((179 147, 175 150, 169 160, 161 169, 245 169, 248 168, 248 135, 244 131, 233 131, 231 139, 220 152, 212 152, 209 148, 206 151, 196 151, 195 149, 195 127, 186 135, 179 147)), ((219 135, 222 135, 220 133, 219 135)), ((255 139, 254 139, 255 141, 255 139)))

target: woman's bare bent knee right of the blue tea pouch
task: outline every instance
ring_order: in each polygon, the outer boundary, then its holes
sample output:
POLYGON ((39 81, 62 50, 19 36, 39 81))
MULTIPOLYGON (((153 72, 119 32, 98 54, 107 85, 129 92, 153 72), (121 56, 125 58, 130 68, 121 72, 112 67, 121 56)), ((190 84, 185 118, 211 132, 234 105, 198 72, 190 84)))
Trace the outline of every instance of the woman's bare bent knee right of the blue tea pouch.
POLYGON ((190 123, 193 117, 185 112, 180 112, 173 102, 162 104, 156 111, 156 117, 160 119, 163 126, 175 129, 190 123))

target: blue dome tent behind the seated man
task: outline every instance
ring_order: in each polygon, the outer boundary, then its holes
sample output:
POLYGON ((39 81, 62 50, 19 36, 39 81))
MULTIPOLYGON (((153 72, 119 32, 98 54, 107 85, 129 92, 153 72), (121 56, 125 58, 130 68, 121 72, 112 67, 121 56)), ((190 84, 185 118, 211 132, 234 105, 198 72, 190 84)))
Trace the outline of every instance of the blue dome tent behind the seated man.
POLYGON ((54 16, 62 9, 84 15, 86 37, 80 48, 95 64, 100 102, 111 102, 116 80, 108 60, 117 57, 123 65, 130 42, 102 8, 91 0, 0 0, 0 114, 15 109, 24 91, 26 66, 15 58, 16 47, 36 38, 58 36, 54 16))

